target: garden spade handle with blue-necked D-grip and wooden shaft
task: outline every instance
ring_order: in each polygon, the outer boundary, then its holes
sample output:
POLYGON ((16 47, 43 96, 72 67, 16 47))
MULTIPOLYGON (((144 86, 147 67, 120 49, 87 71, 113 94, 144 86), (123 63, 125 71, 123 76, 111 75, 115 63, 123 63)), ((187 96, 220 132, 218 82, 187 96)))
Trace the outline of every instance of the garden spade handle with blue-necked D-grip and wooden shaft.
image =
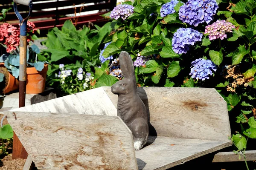
POLYGON ((20 75, 19 75, 19 107, 25 106, 26 98, 26 54, 27 54, 27 21, 32 14, 32 0, 13 0, 14 11, 20 21, 20 75), (29 15, 23 19, 18 12, 17 4, 29 6, 29 15))

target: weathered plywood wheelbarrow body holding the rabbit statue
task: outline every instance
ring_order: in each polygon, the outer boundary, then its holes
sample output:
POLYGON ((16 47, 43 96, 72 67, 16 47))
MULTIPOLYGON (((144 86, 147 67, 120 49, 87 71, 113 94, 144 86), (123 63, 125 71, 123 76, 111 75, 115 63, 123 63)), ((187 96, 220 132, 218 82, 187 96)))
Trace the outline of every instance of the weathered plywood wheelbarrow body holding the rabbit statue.
POLYGON ((139 151, 110 87, 5 115, 39 170, 165 170, 232 144, 227 104, 215 89, 139 87, 138 94, 150 122, 139 151))

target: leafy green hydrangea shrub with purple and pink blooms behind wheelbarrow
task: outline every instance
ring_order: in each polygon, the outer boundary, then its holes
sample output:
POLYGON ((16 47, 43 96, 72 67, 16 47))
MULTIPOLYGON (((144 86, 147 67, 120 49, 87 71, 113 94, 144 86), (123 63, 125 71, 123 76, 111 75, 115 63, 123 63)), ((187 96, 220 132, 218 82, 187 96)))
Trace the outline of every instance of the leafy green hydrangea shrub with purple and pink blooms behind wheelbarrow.
MULTIPOLYGON (((134 7, 125 20, 112 17, 116 10, 104 15, 112 21, 114 32, 105 39, 111 43, 102 56, 115 59, 122 50, 129 52, 138 86, 216 88, 230 115, 243 126, 239 136, 256 138, 256 2, 233 3, 125 2, 134 7)), ((238 131, 236 123, 231 126, 238 131)), ((230 138, 237 141, 236 137, 230 138)), ((243 143, 240 150, 245 148, 243 143)))

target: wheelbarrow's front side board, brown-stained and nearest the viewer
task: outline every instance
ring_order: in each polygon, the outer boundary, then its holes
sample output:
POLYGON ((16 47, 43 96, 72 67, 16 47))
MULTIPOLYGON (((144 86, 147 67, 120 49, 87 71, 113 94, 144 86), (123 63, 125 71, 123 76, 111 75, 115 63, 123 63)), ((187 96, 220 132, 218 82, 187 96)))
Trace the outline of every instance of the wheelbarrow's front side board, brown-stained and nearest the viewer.
POLYGON ((40 170, 137 170, 132 133, 116 116, 5 112, 40 170))

